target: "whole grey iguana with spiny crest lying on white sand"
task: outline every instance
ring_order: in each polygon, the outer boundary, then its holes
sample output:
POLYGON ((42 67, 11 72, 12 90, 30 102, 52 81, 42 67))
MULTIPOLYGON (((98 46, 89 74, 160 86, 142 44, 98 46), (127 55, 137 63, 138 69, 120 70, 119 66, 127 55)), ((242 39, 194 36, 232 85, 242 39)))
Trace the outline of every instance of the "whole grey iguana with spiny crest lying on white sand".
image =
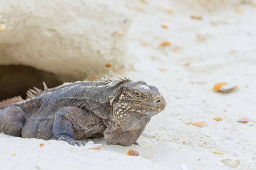
POLYGON ((102 138, 122 146, 136 143, 146 124, 166 106, 154 86, 130 79, 64 83, 27 91, 0 103, 0 133, 22 138, 76 141, 102 138), (1 106, 2 105, 2 106, 1 106))

